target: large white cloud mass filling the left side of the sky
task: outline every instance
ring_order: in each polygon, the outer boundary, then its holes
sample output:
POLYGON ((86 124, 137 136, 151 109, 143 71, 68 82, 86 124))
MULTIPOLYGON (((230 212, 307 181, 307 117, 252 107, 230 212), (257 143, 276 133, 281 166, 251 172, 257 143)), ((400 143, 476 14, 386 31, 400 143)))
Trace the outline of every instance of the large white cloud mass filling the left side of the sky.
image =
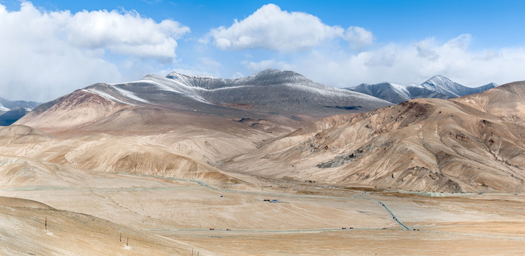
POLYGON ((0 4, 0 97, 46 101, 94 82, 121 82, 129 65, 145 72, 172 62, 184 33, 189 28, 176 21, 156 23, 135 11, 48 12, 27 1, 7 11, 0 4))

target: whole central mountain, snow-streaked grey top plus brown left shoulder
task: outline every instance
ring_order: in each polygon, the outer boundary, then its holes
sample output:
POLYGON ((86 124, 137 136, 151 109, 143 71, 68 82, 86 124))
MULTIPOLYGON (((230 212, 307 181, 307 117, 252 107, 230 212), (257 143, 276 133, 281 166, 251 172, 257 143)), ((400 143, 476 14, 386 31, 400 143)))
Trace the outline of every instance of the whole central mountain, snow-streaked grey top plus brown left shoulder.
POLYGON ((44 103, 18 124, 47 132, 46 127, 86 125, 120 110, 140 108, 229 119, 265 119, 271 115, 274 119, 312 122, 388 105, 391 103, 377 97, 322 85, 292 71, 269 69, 238 79, 173 72, 166 77, 147 75, 135 82, 90 85, 44 103))

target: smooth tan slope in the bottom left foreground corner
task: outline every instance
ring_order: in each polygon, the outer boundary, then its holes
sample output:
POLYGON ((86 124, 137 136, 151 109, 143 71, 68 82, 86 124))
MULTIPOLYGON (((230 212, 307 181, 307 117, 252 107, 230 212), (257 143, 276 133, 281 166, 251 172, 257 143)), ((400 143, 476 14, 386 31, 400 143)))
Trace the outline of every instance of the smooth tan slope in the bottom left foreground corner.
POLYGON ((0 197, 4 255, 188 255, 172 242, 92 215, 0 197), (120 238, 123 234, 124 240, 120 238))

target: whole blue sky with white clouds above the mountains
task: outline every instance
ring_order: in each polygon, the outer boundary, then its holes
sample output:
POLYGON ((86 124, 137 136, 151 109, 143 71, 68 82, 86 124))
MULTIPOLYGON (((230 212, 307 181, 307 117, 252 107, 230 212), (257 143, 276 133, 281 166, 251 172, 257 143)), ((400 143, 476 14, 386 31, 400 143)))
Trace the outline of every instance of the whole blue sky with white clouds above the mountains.
POLYGON ((334 87, 525 80, 525 1, 0 0, 0 97, 293 70, 334 87))

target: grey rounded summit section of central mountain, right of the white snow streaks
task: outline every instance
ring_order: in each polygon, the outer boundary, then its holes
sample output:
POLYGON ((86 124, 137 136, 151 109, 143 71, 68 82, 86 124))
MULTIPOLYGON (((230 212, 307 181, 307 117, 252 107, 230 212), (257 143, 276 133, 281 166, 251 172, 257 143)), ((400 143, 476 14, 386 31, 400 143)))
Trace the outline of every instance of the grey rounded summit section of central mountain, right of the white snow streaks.
MULTIPOLYGON (((157 82, 159 79, 157 79, 157 82)), ((170 73, 162 80, 199 100, 259 112, 326 112, 326 109, 373 110, 388 102, 360 93, 348 93, 314 82, 292 71, 268 69, 239 79, 221 79, 170 73), (182 88, 181 88, 182 87, 182 88)))

